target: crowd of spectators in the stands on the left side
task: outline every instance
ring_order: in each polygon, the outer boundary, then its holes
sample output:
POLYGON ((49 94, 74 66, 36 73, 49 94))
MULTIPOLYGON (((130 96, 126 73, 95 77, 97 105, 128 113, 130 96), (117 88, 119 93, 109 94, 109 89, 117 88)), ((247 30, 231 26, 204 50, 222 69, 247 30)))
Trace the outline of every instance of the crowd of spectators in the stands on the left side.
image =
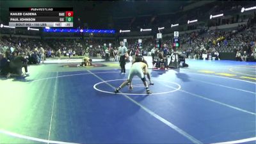
MULTIPOLYGON (((109 47, 106 43, 106 47, 109 47)), ((113 43, 112 43, 113 44, 113 43)), ((104 42, 99 40, 64 40, 64 39, 47 39, 40 40, 35 38, 17 38, 17 37, 1 37, 0 52, 5 53, 8 50, 15 49, 19 52, 24 52, 27 56, 33 53, 37 55, 44 49, 45 56, 83 56, 88 53, 89 56, 99 56, 104 54, 104 42)))

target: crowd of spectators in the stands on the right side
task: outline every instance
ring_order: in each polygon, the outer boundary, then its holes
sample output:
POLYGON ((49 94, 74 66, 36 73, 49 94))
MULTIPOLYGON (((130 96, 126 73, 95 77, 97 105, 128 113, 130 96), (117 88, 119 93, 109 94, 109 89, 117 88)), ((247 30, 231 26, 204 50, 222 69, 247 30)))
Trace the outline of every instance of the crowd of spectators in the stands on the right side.
MULTIPOLYGON (((231 30, 201 30, 185 34, 181 39, 181 49, 191 58, 202 58, 202 54, 236 53, 241 56, 254 57, 248 60, 255 61, 255 26, 238 26, 231 30)), ((236 57, 237 58, 237 57, 236 57)), ((243 58, 237 58, 242 61, 243 58)))

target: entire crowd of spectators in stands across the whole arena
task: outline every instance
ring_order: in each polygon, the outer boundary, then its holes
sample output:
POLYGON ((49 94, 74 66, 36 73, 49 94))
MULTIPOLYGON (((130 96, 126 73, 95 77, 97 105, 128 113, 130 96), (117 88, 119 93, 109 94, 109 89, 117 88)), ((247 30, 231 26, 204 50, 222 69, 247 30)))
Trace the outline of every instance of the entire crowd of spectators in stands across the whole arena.
MULTIPOLYGON (((253 22, 252 19, 251 22, 253 22)), ((234 53, 236 60, 255 61, 256 26, 253 24, 239 25, 236 29, 201 29, 192 33, 185 33, 180 36, 179 51, 186 52, 189 58, 202 59, 202 54, 234 53)), ((138 38, 127 39, 128 49, 138 50, 138 38)), ((172 51, 172 36, 164 36, 162 45, 166 44, 169 51, 172 51)), ((142 39, 141 55, 148 55, 151 49, 156 46, 154 38, 142 39)), ((12 53, 18 51, 24 54, 29 62, 40 63, 44 58, 60 56, 90 56, 105 58, 106 48, 109 53, 117 50, 118 40, 102 39, 36 39, 21 37, 0 38, 0 53, 12 53), (111 45, 109 45, 111 44, 111 45), (43 58, 42 58, 43 57, 43 58)), ((110 54, 111 56, 111 54, 110 54)))

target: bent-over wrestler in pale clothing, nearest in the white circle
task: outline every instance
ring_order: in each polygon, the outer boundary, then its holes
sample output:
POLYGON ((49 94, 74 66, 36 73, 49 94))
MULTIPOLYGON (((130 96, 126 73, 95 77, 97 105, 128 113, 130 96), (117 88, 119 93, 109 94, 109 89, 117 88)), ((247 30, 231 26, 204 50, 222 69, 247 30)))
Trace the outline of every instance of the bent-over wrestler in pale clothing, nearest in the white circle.
POLYGON ((127 85, 128 83, 130 83, 129 89, 132 90, 132 78, 134 76, 138 76, 141 78, 141 80, 143 81, 143 84, 146 88, 147 94, 152 93, 149 89, 148 89, 148 83, 147 80, 145 78, 145 74, 148 73, 148 67, 146 63, 143 62, 135 62, 132 64, 131 70, 129 72, 129 76, 128 79, 126 81, 124 81, 124 83, 122 83, 118 88, 116 88, 115 93, 118 93, 119 90, 121 88, 124 88, 125 85, 127 85))

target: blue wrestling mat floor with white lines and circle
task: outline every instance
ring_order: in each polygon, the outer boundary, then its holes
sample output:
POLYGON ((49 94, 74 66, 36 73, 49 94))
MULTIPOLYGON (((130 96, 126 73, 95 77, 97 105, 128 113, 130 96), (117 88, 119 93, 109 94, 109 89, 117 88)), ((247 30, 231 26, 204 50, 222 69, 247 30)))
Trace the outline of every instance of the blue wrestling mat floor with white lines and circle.
POLYGON ((1 78, 0 143, 256 143, 255 63, 150 70, 152 95, 140 79, 113 93, 117 62, 49 63, 1 78))

